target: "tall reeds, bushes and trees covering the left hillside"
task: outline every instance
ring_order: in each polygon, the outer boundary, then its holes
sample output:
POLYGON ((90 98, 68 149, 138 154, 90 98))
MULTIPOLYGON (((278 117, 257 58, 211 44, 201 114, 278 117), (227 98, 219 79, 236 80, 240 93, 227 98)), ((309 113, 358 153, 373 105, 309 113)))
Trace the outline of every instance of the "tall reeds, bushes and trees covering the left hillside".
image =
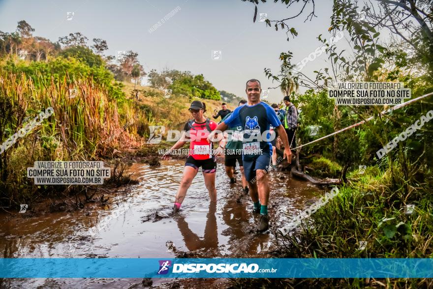
POLYGON ((218 91, 203 75, 171 71, 167 98, 165 87, 137 85, 146 73, 133 51, 116 60, 103 55, 105 40, 94 38, 91 49, 80 32, 58 43, 33 32, 26 21, 18 23, 17 32, 0 32, 0 144, 48 107, 54 114, 0 155, 3 210, 82 191, 81 186, 35 186, 27 178, 34 161, 147 156, 156 149, 144 142, 149 126, 177 128, 189 119, 186 107, 197 97, 207 98, 211 111, 220 105, 218 91))

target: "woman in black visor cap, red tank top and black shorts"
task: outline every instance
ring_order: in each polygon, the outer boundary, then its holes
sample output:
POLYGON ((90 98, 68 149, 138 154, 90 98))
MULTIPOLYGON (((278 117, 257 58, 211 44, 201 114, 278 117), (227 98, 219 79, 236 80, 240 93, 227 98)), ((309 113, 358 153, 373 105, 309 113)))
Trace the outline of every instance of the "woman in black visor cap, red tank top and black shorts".
MULTIPOLYGON (((216 159, 212 155, 212 143, 207 140, 209 133, 216 128, 216 122, 211 121, 203 116, 206 112, 204 102, 194 100, 189 107, 193 119, 189 120, 184 127, 182 137, 171 147, 171 150, 177 150, 186 144, 189 140, 189 154, 186 158, 184 175, 176 193, 176 199, 173 206, 173 214, 176 214, 181 208, 181 204, 185 199, 186 191, 191 186, 192 180, 197 175, 198 168, 202 167, 203 177, 205 179, 206 189, 209 192, 211 202, 216 202, 216 159)), ((162 156, 163 160, 168 158, 168 155, 162 156)))

